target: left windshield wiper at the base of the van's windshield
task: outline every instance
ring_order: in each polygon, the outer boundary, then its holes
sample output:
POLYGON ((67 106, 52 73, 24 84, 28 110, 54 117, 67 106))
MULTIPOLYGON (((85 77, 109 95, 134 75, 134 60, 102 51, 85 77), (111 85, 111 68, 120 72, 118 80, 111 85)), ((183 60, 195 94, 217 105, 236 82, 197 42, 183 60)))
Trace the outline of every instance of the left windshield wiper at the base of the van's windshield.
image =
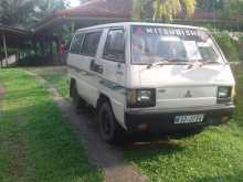
POLYGON ((147 68, 155 66, 163 66, 163 65, 191 65, 188 60, 183 58, 168 58, 161 60, 159 62, 150 63, 147 68))

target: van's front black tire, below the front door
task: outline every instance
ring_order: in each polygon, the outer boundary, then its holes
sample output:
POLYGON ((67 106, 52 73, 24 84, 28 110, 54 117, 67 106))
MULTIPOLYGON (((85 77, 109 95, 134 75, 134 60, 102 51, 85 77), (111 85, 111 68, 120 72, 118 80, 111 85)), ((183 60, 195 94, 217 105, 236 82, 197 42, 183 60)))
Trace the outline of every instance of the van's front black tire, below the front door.
POLYGON ((120 142, 124 138, 124 129, 116 121, 110 105, 105 101, 98 109, 98 127, 102 139, 107 143, 120 142))

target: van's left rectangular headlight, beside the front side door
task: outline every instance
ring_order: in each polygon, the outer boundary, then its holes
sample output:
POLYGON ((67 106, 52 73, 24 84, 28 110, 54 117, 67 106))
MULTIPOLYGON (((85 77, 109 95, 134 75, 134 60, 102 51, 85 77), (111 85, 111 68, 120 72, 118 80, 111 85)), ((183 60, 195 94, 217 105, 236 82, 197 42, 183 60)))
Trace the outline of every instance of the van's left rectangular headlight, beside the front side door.
POLYGON ((127 107, 154 107, 156 106, 155 89, 127 89, 127 107))

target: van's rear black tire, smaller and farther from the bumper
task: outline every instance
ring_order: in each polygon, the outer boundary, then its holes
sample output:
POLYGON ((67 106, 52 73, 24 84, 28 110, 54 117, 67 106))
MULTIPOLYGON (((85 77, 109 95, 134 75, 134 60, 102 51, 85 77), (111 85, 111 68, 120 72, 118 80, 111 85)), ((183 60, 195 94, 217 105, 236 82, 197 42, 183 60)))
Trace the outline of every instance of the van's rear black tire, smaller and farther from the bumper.
POLYGON ((73 101, 75 109, 76 110, 83 109, 86 106, 86 104, 78 95, 76 83, 73 83, 70 85, 70 90, 71 90, 71 97, 72 97, 72 101, 73 101))

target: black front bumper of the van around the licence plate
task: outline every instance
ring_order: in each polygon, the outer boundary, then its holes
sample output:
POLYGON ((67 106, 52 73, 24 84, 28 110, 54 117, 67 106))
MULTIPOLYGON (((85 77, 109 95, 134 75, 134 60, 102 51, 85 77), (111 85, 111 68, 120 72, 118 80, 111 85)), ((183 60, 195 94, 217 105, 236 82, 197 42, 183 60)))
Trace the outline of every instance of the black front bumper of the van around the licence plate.
POLYGON ((177 132, 202 128, 209 125, 219 125, 230 120, 234 105, 218 105, 211 107, 181 108, 181 109, 130 109, 126 110, 126 126, 128 131, 159 131, 177 132), (197 124, 173 124, 176 116, 203 114, 202 122, 197 124))

